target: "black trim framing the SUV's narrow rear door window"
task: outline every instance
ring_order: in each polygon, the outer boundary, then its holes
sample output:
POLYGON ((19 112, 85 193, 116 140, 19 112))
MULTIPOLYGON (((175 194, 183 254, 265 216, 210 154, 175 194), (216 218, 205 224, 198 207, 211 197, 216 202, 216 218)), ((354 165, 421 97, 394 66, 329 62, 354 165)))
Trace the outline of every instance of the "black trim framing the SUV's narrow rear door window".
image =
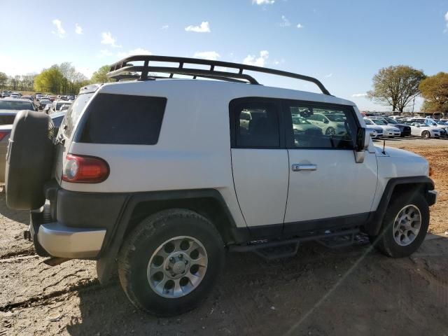
POLYGON ((281 100, 282 99, 266 97, 242 97, 232 99, 229 103, 230 148, 286 149, 286 135, 281 100), (272 104, 276 107, 275 113, 279 120, 279 146, 237 146, 237 119, 235 118, 235 116, 239 111, 239 106, 244 104, 272 104))

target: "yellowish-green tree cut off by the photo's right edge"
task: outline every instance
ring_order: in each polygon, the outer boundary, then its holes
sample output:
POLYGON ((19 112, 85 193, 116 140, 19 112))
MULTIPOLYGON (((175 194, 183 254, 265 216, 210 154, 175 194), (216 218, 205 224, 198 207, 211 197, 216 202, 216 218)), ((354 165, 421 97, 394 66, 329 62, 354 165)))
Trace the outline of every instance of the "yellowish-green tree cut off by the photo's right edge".
POLYGON ((422 80, 419 89, 425 111, 448 113, 448 73, 439 72, 422 80))

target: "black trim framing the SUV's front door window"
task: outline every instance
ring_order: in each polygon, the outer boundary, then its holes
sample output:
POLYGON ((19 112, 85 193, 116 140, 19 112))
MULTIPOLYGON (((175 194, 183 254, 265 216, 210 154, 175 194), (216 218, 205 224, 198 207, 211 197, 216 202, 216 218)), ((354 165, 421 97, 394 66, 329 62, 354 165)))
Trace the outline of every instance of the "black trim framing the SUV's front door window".
POLYGON ((294 146, 294 133, 293 133, 293 116, 290 113, 290 106, 300 106, 300 107, 308 107, 308 108, 328 108, 328 109, 336 109, 339 111, 344 111, 351 115, 354 124, 356 127, 360 127, 359 120, 356 116, 356 112, 353 109, 353 106, 350 105, 342 105, 342 104, 332 104, 332 103, 320 103, 320 102, 309 102, 305 100, 295 100, 295 99, 281 99, 282 111, 283 111, 283 120, 284 120, 284 134, 286 138, 286 148, 287 149, 295 149, 295 150, 330 150, 330 151, 353 151, 356 148, 356 139, 351 139, 352 148, 335 148, 335 147, 295 147, 294 146))

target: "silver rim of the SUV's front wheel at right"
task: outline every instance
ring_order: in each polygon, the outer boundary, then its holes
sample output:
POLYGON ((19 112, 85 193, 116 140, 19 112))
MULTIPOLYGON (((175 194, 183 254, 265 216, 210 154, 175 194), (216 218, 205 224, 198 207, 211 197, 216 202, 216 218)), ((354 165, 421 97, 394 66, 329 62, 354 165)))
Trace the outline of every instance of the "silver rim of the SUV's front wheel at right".
POLYGON ((419 235, 421 213, 419 208, 409 204, 402 208, 393 222, 393 239, 400 246, 407 246, 419 235))

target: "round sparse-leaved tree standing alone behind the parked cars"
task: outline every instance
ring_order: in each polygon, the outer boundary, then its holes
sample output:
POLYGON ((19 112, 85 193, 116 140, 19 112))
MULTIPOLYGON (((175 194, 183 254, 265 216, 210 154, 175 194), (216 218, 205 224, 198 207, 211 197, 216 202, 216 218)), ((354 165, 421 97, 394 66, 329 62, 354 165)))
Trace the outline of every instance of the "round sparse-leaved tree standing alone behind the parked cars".
POLYGON ((392 111, 402 112, 420 94, 419 84, 425 78, 421 70, 398 65, 379 69, 373 77, 373 90, 367 97, 382 105, 392 106, 392 111))

